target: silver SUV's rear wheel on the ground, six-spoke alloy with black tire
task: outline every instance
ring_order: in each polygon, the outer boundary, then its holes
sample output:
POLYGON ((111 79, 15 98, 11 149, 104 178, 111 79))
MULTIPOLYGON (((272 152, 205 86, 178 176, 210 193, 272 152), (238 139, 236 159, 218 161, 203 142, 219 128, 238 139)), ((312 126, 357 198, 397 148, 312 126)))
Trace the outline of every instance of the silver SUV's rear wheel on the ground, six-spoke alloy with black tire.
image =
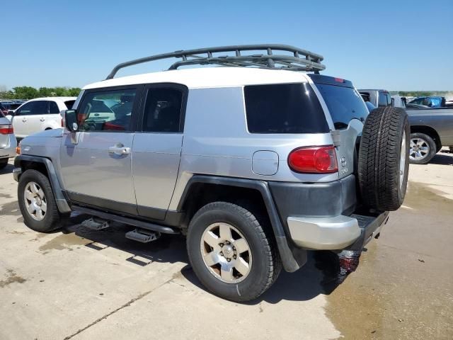
POLYGON ((233 203, 209 203, 198 210, 187 246, 197 278, 227 300, 256 299, 280 272, 272 239, 252 212, 233 203))

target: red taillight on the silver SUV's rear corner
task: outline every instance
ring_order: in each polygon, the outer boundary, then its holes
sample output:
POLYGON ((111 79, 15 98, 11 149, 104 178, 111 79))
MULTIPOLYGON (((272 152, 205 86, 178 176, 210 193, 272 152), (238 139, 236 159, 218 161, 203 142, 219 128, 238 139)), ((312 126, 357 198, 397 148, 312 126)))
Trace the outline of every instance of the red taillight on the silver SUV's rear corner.
POLYGON ((308 174, 331 174, 338 171, 335 147, 299 147, 288 156, 292 171, 308 174))

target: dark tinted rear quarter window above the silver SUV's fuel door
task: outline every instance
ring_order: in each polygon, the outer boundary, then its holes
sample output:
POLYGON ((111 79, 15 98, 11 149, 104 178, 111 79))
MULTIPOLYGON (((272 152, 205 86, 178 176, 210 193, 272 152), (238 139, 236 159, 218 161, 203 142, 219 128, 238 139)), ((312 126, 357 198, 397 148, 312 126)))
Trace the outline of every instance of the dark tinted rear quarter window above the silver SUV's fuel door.
POLYGON ((303 84, 244 87, 251 133, 326 133, 328 125, 313 89, 303 84))

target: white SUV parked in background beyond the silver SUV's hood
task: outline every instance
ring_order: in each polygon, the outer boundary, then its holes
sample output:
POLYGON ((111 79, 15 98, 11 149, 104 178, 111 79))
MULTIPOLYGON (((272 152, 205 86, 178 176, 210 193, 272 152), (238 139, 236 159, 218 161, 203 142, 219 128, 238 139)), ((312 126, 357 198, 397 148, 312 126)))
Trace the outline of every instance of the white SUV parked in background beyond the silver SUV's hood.
POLYGON ((35 98, 26 101, 17 108, 10 111, 7 118, 16 133, 16 137, 24 138, 35 132, 57 129, 62 127, 62 110, 72 108, 76 97, 48 97, 35 98))

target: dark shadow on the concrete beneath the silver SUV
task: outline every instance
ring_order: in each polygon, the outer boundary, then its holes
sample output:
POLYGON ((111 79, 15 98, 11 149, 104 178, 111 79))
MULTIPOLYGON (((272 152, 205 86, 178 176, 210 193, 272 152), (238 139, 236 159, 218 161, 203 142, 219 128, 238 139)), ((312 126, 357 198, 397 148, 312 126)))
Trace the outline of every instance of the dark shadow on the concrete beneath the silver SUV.
MULTIPOLYGON (((131 258, 127 259, 140 266, 151 265, 152 261, 163 263, 189 263, 185 248, 185 237, 181 235, 165 235, 149 244, 141 244, 125 238, 125 233, 132 227, 115 224, 103 230, 91 230, 80 225, 88 218, 87 215, 76 215, 64 223, 61 232, 74 233, 77 236, 91 241, 86 246, 102 251, 105 247, 113 247, 120 251, 127 251, 131 258), (134 260, 139 256, 140 260, 134 260), (147 262, 149 260, 149 263, 147 262)), ((188 264, 181 269, 185 279, 202 290, 206 290, 195 276, 188 264)), ((329 251, 309 252, 308 261, 299 271, 287 273, 282 270, 274 285, 257 300, 246 302, 247 305, 256 305, 261 301, 277 303, 281 300, 306 301, 319 294, 330 294, 349 272, 342 271, 338 256, 329 251)))

